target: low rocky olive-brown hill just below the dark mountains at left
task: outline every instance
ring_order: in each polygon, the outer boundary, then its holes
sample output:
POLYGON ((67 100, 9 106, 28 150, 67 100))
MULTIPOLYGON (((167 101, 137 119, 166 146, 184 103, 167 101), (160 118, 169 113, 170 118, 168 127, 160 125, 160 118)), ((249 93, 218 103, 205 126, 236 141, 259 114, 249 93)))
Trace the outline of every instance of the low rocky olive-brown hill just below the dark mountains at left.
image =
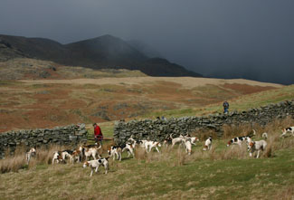
POLYGON ((42 80, 42 79, 100 79, 106 77, 143 77, 146 74, 141 71, 129 71, 125 69, 101 69, 93 70, 83 67, 72 67, 36 60, 30 58, 14 58, 0 62, 0 80, 42 80))

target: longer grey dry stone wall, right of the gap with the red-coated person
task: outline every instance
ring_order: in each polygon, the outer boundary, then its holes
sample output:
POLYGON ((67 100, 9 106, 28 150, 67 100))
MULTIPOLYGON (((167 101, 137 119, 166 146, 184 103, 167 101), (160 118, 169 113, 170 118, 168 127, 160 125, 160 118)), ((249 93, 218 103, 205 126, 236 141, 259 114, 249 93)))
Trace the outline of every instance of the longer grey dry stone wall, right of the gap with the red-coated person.
POLYGON ((114 140, 118 144, 125 143, 133 135, 138 139, 164 140, 166 135, 179 136, 203 129, 213 129, 219 137, 223 135, 223 125, 266 125, 274 119, 294 118, 294 100, 282 101, 261 108, 242 112, 232 111, 229 114, 215 114, 206 117, 184 117, 179 119, 144 119, 128 122, 117 121, 114 127, 114 140))

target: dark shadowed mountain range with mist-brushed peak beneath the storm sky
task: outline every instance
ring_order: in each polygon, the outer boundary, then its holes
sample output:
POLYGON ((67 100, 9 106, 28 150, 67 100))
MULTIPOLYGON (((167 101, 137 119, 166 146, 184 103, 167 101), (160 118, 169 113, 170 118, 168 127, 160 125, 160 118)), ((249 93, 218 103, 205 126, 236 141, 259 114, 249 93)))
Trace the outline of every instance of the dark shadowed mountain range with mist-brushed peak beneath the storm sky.
POLYGON ((0 58, 5 57, 2 61, 29 57, 92 69, 138 70, 151 76, 202 76, 164 59, 150 59, 127 42, 111 35, 64 45, 49 39, 10 35, 0 35, 0 41, 5 43, 2 49, 0 46, 0 58))

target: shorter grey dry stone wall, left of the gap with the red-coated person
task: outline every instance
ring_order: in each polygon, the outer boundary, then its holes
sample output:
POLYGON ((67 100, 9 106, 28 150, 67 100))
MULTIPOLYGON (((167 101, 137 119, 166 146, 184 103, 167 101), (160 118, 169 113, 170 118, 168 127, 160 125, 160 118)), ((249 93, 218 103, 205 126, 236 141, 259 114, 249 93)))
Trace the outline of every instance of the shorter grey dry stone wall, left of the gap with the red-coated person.
POLYGON ((56 127, 54 129, 30 129, 9 131, 0 134, 0 158, 5 157, 5 151, 13 153, 17 146, 26 148, 57 145, 78 145, 87 142, 88 131, 85 124, 56 127))

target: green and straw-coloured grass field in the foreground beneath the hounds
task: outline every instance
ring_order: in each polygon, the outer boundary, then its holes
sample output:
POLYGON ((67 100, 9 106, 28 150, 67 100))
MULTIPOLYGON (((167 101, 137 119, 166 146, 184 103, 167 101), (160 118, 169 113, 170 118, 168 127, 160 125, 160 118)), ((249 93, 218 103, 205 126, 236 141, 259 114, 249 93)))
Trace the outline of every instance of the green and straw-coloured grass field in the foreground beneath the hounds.
MULTIPOLYGON (((265 128, 254 127, 269 134, 268 148, 261 158, 249 157, 242 148, 226 148, 235 137, 233 129, 227 138, 213 138, 213 149, 203 151, 204 139, 188 156, 179 146, 162 147, 161 153, 149 154, 138 148, 136 158, 123 154, 121 162, 109 158, 109 174, 104 168, 90 177, 90 168, 81 164, 50 165, 52 152, 65 147, 39 149, 29 167, 25 166, 24 148, 15 157, 0 161, 0 196, 3 199, 292 199, 294 195, 294 138, 280 138, 280 126, 292 119, 275 121, 265 128), (268 150, 270 149, 270 150, 268 150), (269 152, 270 151, 270 152, 269 152), (22 164, 23 163, 23 164, 22 164), (15 173, 13 171, 18 171, 15 173)), ((239 127, 243 132, 250 130, 239 127)), ((196 134, 196 133, 194 133, 196 134)), ((108 144, 105 144, 108 146, 108 144)), ((103 155, 106 156, 106 148, 103 155)))

